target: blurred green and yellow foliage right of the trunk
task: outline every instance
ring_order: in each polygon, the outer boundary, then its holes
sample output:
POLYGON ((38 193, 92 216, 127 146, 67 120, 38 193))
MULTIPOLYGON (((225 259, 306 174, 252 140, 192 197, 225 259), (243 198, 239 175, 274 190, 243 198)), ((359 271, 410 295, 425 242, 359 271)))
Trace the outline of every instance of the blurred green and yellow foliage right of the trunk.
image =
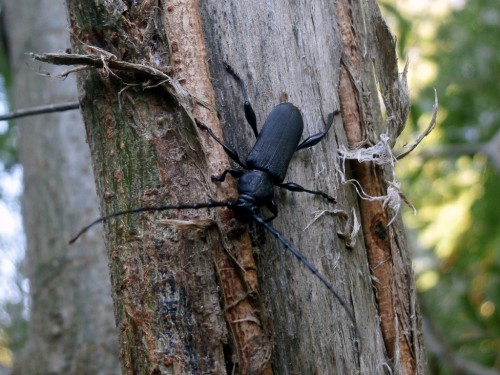
MULTIPOLYGON (((398 168, 419 210, 405 219, 419 240, 415 265, 425 315, 455 354, 500 371, 500 165, 485 152, 500 132, 499 3, 466 1, 436 17, 432 38, 418 35, 427 16, 383 10, 402 59, 418 48, 437 69, 425 89, 412 91, 408 128, 429 121, 434 88, 438 127, 398 168)), ((429 357, 432 374, 456 373, 443 358, 429 357)))

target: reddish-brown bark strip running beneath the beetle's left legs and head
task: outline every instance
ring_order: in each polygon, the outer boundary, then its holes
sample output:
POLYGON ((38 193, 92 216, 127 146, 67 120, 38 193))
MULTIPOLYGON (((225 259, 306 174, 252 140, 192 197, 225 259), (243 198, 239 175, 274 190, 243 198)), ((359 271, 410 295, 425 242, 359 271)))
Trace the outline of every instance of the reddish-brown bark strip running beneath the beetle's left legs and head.
MULTIPOLYGON (((210 80, 199 12, 197 0, 170 1, 165 13, 166 31, 172 47, 173 68, 182 77, 184 87, 213 108, 215 92, 210 80)), ((220 122, 214 111, 195 106, 193 115, 221 137, 220 122)), ((209 165, 208 174, 220 174, 221 167, 229 165, 227 155, 205 132, 201 132, 199 137, 209 165)), ((235 199, 237 191, 234 182, 226 184, 224 189, 214 187, 214 194, 216 200, 235 199)), ((232 214, 220 210, 218 221, 223 233, 231 232, 234 226, 232 214)), ((227 242, 213 245, 224 295, 226 321, 232 332, 239 370, 243 374, 270 374, 271 345, 257 314, 263 308, 258 306, 257 299, 252 298, 257 295, 258 283, 251 241, 247 232, 231 236, 230 240, 230 245, 227 242), (231 253, 239 264, 231 259, 231 253)))

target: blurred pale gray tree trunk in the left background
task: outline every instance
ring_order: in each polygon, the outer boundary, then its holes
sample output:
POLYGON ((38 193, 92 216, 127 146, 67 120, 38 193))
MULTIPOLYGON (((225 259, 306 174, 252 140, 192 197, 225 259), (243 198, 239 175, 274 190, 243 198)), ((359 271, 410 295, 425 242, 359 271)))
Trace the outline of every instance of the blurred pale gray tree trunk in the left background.
MULTIPOLYGON (((14 106, 74 100, 74 79, 50 80, 34 72, 30 51, 61 50, 69 43, 58 2, 4 1, 14 106)), ((47 71, 44 67, 43 71, 47 71)), ((30 280, 30 331, 16 374, 117 374, 117 337, 102 234, 77 246, 75 225, 98 212, 80 113, 16 121, 24 171, 23 218, 30 280)))

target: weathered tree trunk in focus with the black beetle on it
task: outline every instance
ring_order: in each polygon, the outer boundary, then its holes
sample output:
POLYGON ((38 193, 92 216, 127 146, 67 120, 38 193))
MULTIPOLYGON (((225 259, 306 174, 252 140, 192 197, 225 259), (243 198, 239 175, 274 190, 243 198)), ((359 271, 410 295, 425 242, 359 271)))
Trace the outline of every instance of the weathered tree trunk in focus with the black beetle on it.
MULTIPOLYGON (((210 181, 229 161, 193 121, 224 134, 242 159, 250 150, 242 94, 223 61, 247 82, 260 125, 285 97, 302 111, 304 137, 342 111, 287 175, 335 195, 337 205, 277 191, 273 226, 332 281, 359 336, 314 275, 271 236, 252 242, 231 211, 123 216, 107 222, 105 233, 124 373, 423 373, 401 220, 389 225, 394 212, 385 204, 341 185, 338 150, 375 144, 382 133, 392 146, 407 115, 394 40, 376 3, 67 3, 75 51, 104 61, 79 79, 103 214, 237 196, 233 179, 210 181), (113 70, 114 61, 173 80, 113 70), (328 211, 314 220, 318 210, 328 211), (362 231, 350 235, 354 216, 362 231)), ((350 166, 348 177, 367 194, 388 195, 390 165, 350 166)))

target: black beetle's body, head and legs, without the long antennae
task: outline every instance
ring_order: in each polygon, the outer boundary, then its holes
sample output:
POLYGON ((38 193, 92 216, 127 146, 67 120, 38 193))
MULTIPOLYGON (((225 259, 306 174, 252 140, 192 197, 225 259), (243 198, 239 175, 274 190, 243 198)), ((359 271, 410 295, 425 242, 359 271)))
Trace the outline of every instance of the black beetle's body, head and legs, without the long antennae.
POLYGON ((219 140, 209 127, 199 121, 196 124, 201 129, 206 130, 224 148, 229 157, 246 170, 232 167, 225 170, 220 176, 212 176, 214 182, 224 181, 227 173, 238 178, 239 197, 233 208, 236 219, 241 222, 248 222, 253 219, 254 214, 259 214, 260 207, 266 206, 273 214, 272 217, 266 219, 266 222, 273 220, 278 215, 278 208, 274 202, 273 185, 291 191, 321 195, 328 201, 335 203, 334 198, 322 191, 308 190, 293 182, 283 183, 283 180, 293 154, 303 148, 314 146, 321 141, 333 123, 333 116, 339 112, 335 111, 328 116, 327 128, 324 132, 310 136, 299 144, 304 130, 302 115, 293 104, 281 103, 273 108, 259 134, 256 116, 248 100, 247 89, 243 80, 231 66, 225 64, 225 67, 241 86, 245 99, 245 117, 257 137, 252 150, 246 158, 246 165, 240 160, 237 152, 219 140))

